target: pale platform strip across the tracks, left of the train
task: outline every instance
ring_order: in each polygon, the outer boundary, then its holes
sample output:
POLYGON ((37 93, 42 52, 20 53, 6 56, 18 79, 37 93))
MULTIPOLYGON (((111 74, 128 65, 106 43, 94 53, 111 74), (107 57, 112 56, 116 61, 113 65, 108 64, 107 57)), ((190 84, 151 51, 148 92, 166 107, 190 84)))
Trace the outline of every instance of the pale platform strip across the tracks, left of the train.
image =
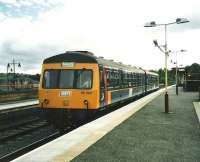
POLYGON ((21 102, 18 101, 16 103, 1 104, 0 111, 9 110, 9 109, 18 108, 18 107, 31 106, 31 105, 36 105, 36 104, 39 104, 38 100, 21 101, 21 102))

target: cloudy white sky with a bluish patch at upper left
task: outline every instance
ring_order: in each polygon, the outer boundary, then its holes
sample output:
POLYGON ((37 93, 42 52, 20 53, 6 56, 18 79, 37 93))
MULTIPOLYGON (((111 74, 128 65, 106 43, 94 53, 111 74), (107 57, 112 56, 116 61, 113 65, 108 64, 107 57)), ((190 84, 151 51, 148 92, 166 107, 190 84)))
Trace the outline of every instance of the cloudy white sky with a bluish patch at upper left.
MULTIPOLYGON (((17 73, 41 72, 47 57, 88 50, 143 69, 164 68, 164 26, 144 24, 190 22, 167 26, 167 47, 178 65, 200 63, 200 1, 197 0, 0 0, 0 72, 13 59, 17 73)), ((168 67, 175 65, 170 53, 168 67)))

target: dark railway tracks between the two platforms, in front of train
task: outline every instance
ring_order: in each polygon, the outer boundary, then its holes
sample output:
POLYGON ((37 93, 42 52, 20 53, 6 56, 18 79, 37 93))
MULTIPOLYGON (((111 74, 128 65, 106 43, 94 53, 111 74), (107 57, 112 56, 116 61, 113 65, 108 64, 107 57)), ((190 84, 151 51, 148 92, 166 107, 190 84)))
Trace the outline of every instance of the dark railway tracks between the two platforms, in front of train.
POLYGON ((42 118, 35 106, 0 112, 0 161, 11 161, 59 136, 59 132, 42 118), (17 110, 18 109, 18 110, 17 110))

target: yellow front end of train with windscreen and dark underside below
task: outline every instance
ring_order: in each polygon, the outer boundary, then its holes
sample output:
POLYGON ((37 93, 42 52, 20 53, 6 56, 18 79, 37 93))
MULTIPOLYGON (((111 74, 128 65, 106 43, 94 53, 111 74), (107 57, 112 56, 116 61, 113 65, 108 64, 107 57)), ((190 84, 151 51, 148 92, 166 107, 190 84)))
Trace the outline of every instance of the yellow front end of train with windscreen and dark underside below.
POLYGON ((40 108, 58 126, 83 121, 99 108, 99 71, 95 63, 43 64, 40 108))

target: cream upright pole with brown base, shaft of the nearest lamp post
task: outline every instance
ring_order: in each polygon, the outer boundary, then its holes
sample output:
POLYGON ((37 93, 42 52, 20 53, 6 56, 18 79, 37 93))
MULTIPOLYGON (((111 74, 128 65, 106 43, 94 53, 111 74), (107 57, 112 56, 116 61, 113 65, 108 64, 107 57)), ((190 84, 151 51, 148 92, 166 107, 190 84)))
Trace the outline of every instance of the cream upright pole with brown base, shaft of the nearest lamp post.
POLYGON ((165 24, 165 113, 169 113, 169 96, 167 93, 167 24, 165 24))

